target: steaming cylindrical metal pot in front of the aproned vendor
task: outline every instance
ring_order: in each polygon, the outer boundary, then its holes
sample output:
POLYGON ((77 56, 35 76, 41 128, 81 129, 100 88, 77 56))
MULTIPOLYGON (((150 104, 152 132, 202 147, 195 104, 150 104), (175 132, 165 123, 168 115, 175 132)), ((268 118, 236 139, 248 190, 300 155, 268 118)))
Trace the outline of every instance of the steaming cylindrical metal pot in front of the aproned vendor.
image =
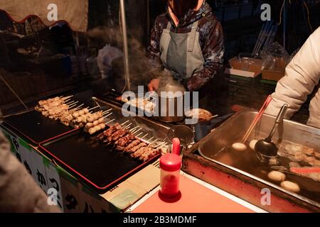
POLYGON ((182 85, 166 84, 156 92, 159 96, 159 121, 183 121, 185 118, 183 103, 186 89, 182 85))

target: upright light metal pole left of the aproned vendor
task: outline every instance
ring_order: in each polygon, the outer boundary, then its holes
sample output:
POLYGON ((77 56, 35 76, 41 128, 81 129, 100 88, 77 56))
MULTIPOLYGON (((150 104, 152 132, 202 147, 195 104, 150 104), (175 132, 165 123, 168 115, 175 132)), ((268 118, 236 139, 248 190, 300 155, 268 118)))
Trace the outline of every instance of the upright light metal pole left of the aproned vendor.
POLYGON ((128 39, 127 39, 127 21, 124 0, 120 1, 120 13, 122 22, 122 37, 123 37, 123 52, 124 52, 124 77, 126 81, 127 91, 131 91, 130 77, 129 77, 129 52, 128 52, 128 39))

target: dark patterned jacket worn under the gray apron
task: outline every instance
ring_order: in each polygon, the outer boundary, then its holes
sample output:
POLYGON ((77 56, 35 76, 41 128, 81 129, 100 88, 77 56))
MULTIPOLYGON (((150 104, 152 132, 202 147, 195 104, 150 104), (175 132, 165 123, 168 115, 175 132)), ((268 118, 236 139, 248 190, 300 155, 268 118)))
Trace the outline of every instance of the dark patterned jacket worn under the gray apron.
POLYGON ((183 17, 177 27, 167 10, 166 13, 163 13, 156 18, 154 28, 152 28, 151 31, 148 51, 149 57, 151 58, 151 64, 154 66, 156 66, 156 62, 161 62, 161 53, 159 50, 160 38, 169 21, 171 21, 172 24, 171 31, 174 31, 175 33, 189 33, 192 24, 195 21, 199 21, 197 31, 199 32, 199 42, 205 63, 203 65, 203 70, 193 74, 191 79, 187 82, 189 91, 197 91, 212 79, 223 66, 225 48, 221 24, 213 15, 212 9, 206 2, 198 11, 190 10, 186 13, 186 16, 183 17))

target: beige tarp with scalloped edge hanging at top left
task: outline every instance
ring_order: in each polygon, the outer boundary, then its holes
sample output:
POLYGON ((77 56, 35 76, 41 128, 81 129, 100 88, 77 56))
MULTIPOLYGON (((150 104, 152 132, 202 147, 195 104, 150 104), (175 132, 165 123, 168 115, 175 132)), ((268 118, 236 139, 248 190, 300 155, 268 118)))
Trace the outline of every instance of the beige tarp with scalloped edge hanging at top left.
POLYGON ((38 16, 46 26, 65 21, 73 31, 87 31, 88 0, 1 0, 0 10, 16 22, 38 16))

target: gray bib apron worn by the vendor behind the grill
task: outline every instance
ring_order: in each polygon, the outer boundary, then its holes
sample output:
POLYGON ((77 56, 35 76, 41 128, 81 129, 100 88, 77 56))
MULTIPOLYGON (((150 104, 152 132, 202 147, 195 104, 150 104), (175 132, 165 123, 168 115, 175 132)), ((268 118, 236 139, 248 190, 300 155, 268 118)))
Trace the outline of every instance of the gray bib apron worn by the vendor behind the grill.
POLYGON ((190 33, 173 33, 171 22, 164 29, 160 39, 161 61, 173 74, 174 79, 183 83, 203 69, 204 58, 197 32, 198 21, 194 22, 190 33))

